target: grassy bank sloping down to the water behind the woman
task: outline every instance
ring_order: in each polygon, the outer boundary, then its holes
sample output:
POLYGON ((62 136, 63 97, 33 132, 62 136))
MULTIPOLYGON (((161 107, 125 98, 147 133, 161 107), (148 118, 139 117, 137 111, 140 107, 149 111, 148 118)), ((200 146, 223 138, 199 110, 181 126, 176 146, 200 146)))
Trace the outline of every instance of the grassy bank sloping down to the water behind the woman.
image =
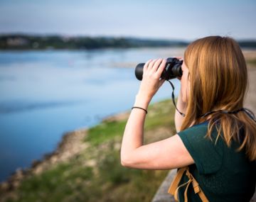
MULTIPOLYGON (((26 177, 11 194, 0 193, 0 201, 151 201, 168 171, 121 166, 119 150, 128 115, 106 119, 87 130, 83 141, 89 147, 67 162, 26 177)), ((149 106, 145 130, 145 142, 175 133, 170 100, 149 106)))

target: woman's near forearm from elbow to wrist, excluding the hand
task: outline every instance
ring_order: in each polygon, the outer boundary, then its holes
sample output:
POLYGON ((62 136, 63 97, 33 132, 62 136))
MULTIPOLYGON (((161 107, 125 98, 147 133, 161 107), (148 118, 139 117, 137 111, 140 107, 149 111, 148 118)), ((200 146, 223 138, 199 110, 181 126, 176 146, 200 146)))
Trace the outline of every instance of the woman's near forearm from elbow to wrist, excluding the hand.
MULTIPOLYGON (((134 106, 139 106, 147 109, 149 106, 149 99, 142 99, 139 95, 136 97, 134 106)), ((144 122, 146 112, 139 108, 134 108, 127 120, 127 125, 124 130, 121 160, 122 162, 129 161, 132 152, 143 145, 144 122)))

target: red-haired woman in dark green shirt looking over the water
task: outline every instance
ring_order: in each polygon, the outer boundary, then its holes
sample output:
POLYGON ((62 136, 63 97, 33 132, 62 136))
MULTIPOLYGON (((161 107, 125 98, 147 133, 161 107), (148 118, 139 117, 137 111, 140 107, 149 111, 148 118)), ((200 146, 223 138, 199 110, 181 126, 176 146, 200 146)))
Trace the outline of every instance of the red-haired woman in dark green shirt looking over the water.
MULTIPOLYGON (((238 43, 210 36, 186 48, 175 113, 176 135, 143 145, 151 98, 164 83, 166 60, 149 60, 127 121, 121 148, 124 167, 188 167, 208 201, 250 201, 256 181, 256 122, 243 108, 247 67, 238 43)), ((181 170, 181 169, 179 169, 181 170)), ((179 185, 186 184, 182 174, 179 185)), ((192 183, 178 189, 179 201, 201 201, 192 183)))

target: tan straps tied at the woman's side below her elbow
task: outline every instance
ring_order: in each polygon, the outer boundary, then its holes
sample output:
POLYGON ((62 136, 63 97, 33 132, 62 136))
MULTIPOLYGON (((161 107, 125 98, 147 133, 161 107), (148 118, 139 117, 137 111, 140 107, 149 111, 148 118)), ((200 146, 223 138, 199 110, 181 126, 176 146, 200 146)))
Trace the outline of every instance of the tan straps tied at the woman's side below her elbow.
POLYGON ((178 189, 180 189, 182 186, 186 186, 186 189, 184 192, 184 199, 185 199, 185 202, 187 202, 188 201, 187 191, 188 191, 188 186, 189 184, 191 184, 191 182, 192 182, 195 193, 198 194, 198 196, 201 198, 201 201, 208 202, 206 195, 201 190, 196 179, 189 172, 188 167, 183 167, 178 169, 176 176, 174 176, 174 180, 171 182, 171 186, 169 187, 168 193, 174 196, 175 201, 178 201, 178 189), (178 186, 179 182, 181 181, 181 177, 183 176, 184 173, 186 174, 186 176, 188 176, 188 181, 178 186))

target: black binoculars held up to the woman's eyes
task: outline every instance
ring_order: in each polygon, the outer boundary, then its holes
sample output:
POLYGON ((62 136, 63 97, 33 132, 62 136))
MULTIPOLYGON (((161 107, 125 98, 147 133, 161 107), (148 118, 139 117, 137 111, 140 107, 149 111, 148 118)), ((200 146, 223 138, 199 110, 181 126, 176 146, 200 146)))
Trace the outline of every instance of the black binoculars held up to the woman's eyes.
MULTIPOLYGON (((166 67, 164 68, 163 73, 161 74, 161 79, 175 79, 176 77, 182 76, 181 65, 183 60, 178 60, 176 57, 169 57, 166 59, 166 67)), ((142 80, 143 67, 145 63, 137 64, 135 68, 135 76, 140 81, 142 80)))

